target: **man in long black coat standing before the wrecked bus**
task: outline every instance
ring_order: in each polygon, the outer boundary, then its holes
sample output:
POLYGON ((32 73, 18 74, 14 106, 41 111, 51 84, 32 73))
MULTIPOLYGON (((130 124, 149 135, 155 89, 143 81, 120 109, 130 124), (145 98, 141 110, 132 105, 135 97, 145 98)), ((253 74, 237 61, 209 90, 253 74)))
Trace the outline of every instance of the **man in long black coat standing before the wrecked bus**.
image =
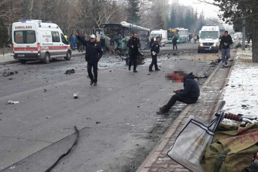
POLYGON ((129 61, 129 71, 131 70, 131 65, 134 63, 134 72, 136 71, 137 67, 137 58, 139 54, 139 48, 140 48, 140 40, 137 38, 137 33, 134 33, 131 39, 127 42, 127 47, 129 47, 129 55, 130 55, 130 61, 129 61))

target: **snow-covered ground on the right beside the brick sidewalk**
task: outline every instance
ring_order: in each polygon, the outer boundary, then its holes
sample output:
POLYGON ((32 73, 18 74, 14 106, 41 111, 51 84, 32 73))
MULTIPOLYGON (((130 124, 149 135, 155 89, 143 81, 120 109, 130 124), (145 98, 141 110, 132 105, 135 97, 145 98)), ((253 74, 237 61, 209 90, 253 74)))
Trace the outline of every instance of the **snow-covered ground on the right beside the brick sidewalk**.
POLYGON ((239 49, 228 85, 222 92, 226 101, 223 111, 258 116, 257 71, 258 63, 252 63, 252 48, 245 51, 239 49))

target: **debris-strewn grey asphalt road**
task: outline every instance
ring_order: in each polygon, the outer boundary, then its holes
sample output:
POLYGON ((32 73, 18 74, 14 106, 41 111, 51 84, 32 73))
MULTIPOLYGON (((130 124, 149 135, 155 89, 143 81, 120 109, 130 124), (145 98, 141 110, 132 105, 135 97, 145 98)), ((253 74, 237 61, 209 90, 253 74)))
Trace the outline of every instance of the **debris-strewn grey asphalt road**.
POLYGON ((173 90, 182 88, 165 81, 166 73, 181 68, 202 74, 214 68, 211 61, 199 60, 207 54, 197 54, 195 44, 180 44, 177 51, 166 45, 160 55, 161 71, 151 73, 150 58, 133 73, 125 61, 106 55, 97 86, 89 85, 83 56, 0 66, 0 170, 44 172, 72 145, 76 125, 78 143, 55 171, 136 171, 185 106, 178 103, 170 115, 156 115, 173 90), (71 68, 76 73, 64 74, 71 68), (18 74, 3 77, 5 71, 18 74))

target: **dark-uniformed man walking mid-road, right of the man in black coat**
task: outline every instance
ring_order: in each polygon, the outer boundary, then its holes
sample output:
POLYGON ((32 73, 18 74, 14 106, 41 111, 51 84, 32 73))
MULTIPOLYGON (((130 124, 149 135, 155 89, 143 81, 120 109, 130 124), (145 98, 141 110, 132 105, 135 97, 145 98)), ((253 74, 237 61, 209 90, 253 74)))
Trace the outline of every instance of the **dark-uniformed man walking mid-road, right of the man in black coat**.
POLYGON ((149 66, 149 72, 153 72, 152 67, 154 65, 155 71, 160 70, 157 65, 157 56, 159 53, 159 44, 158 42, 160 41, 160 37, 156 37, 156 41, 154 41, 153 45, 151 46, 151 65, 149 66))

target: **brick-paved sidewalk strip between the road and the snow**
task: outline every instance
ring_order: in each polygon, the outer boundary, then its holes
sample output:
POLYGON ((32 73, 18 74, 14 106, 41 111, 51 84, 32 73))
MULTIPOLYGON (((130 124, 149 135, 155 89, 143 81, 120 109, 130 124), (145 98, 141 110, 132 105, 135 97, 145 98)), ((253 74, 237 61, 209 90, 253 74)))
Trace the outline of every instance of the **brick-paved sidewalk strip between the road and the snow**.
MULTIPOLYGON (((231 59, 234 59, 236 50, 231 50, 231 59)), ((229 65, 233 65, 229 62, 229 65)), ((201 87, 201 95, 196 104, 188 105, 170 126, 159 143, 154 147, 137 172, 186 172, 189 171, 183 166, 177 164, 167 157, 167 152, 174 144, 174 141, 182 130, 186 120, 190 115, 198 116, 201 119, 209 121, 217 107, 217 102, 220 100, 222 89, 225 86, 227 77, 231 72, 232 67, 221 69, 218 65, 211 73, 208 79, 201 87)))

